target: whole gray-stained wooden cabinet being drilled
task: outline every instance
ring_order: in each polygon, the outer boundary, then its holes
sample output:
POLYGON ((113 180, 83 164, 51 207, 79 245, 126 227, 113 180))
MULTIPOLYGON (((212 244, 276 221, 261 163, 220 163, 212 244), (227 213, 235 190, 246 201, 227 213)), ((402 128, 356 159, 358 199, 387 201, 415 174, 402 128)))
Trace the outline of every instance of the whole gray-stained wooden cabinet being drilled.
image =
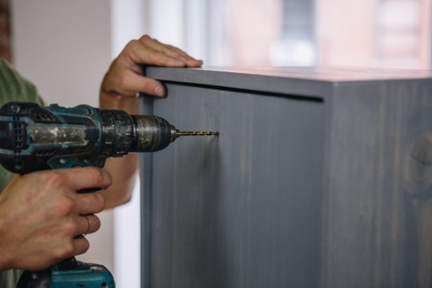
POLYGON ((142 112, 143 287, 432 284, 432 74, 169 69, 142 112))

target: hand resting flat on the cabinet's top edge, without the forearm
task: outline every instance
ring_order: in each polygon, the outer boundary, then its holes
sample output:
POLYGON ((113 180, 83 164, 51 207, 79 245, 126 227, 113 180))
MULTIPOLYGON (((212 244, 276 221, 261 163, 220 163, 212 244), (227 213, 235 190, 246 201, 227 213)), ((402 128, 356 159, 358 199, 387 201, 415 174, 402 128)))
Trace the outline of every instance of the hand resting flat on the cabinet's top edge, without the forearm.
POLYGON ((123 97, 134 97, 137 92, 164 96, 166 92, 161 83, 142 76, 142 64, 201 67, 203 62, 195 60, 178 48, 144 35, 139 40, 130 41, 119 57, 112 62, 102 81, 102 92, 123 97))

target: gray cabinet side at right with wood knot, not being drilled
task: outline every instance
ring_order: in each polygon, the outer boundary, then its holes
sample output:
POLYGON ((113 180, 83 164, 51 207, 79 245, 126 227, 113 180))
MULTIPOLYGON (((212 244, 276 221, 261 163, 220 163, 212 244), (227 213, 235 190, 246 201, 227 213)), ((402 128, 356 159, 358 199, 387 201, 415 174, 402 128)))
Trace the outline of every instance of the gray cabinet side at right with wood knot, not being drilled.
POLYGON ((327 287, 430 287, 432 85, 351 83, 332 111, 327 287))

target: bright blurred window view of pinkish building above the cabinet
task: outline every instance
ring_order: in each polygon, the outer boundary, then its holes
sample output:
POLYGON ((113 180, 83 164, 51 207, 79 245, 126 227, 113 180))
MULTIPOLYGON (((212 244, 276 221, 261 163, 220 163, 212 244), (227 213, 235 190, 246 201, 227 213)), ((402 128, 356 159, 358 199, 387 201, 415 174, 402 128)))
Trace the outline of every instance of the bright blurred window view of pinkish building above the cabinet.
POLYGON ((150 8, 174 20, 151 13, 153 34, 211 66, 431 67, 431 0, 166 0, 150 8))

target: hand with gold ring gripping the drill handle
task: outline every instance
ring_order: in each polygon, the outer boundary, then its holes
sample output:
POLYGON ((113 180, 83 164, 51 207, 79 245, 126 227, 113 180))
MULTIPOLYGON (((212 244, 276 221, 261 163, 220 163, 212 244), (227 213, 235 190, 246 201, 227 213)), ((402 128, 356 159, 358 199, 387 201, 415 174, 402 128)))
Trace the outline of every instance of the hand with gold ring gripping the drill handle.
POLYGON ((86 252, 83 234, 100 228, 93 214, 105 201, 100 193, 76 191, 111 183, 111 175, 95 167, 15 176, 0 194, 0 270, 42 270, 86 252))

